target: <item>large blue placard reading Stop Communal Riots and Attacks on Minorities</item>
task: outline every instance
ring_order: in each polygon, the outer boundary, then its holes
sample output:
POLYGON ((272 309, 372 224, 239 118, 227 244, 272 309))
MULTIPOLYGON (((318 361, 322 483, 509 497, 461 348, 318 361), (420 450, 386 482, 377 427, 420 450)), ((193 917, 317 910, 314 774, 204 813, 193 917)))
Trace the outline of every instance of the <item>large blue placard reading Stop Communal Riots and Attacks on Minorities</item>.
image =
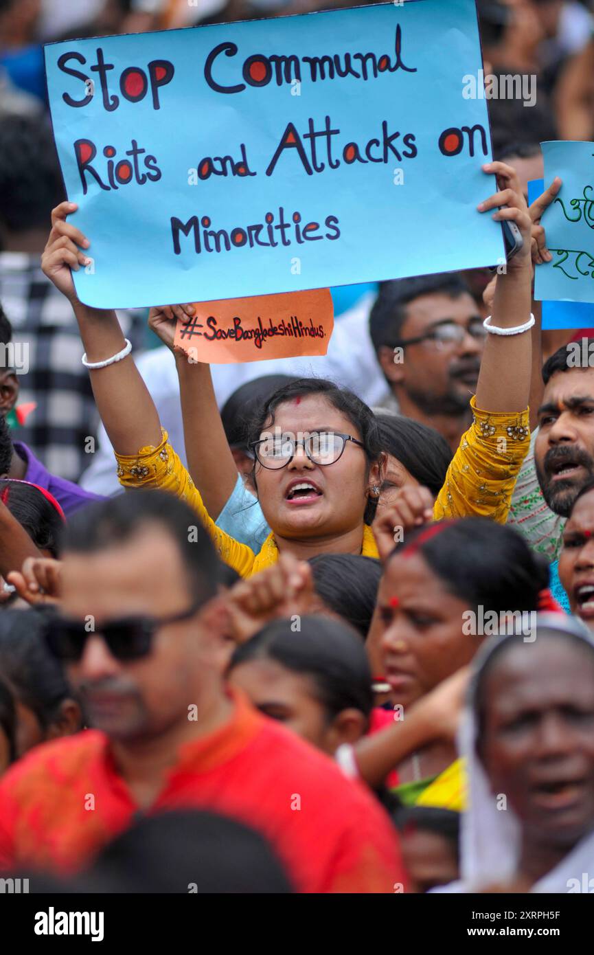
POLYGON ((45 47, 81 300, 126 308, 503 260, 475 0, 45 47))

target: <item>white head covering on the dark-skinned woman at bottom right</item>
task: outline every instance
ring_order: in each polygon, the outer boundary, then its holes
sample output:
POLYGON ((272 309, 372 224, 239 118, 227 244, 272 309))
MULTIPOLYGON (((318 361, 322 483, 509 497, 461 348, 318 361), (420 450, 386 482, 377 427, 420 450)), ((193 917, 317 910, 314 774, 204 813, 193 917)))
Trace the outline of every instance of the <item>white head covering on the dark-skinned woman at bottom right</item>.
MULTIPOLYGON (((594 651, 589 631, 575 617, 559 613, 541 613, 539 627, 565 635, 575 635, 594 651)), ((474 673, 458 734, 458 752, 466 759, 469 808, 463 814, 460 830, 460 877, 458 882, 435 889, 436 892, 476 892, 489 885, 511 881, 518 871, 520 859, 520 821, 511 807, 497 808, 489 779, 477 756, 477 684, 480 673, 496 647, 507 637, 495 637, 481 648, 474 664, 474 673)), ((516 640, 518 637, 515 638, 516 640)), ((583 873, 594 874, 594 832, 578 845, 543 878, 533 885, 532 892, 565 893, 583 873)), ((576 889, 573 891, 588 891, 576 889)))

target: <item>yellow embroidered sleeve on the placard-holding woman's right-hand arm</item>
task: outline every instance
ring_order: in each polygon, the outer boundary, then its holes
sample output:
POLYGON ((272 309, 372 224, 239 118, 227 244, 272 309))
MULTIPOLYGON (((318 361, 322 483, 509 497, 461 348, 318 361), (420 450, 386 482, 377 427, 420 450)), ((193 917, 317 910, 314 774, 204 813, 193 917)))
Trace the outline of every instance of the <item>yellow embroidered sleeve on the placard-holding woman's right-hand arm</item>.
POLYGON ((462 435, 437 495, 435 520, 483 517, 504 524, 516 478, 530 448, 528 410, 481 412, 473 396, 473 423, 462 435))

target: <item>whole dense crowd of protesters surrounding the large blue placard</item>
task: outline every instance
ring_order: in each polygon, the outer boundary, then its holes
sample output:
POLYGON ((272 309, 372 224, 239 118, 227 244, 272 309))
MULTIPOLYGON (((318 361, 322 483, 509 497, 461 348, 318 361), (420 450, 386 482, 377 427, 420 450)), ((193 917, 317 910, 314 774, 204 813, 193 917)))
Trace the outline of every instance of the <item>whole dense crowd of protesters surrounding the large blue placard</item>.
POLYGON ((594 872, 594 329, 541 330, 562 179, 527 202, 541 141, 594 136, 592 5, 477 0, 485 74, 537 78, 488 100, 504 268, 332 289, 327 355, 212 368, 192 304, 76 294, 41 44, 354 5, 0 0, 0 875, 32 891, 594 872))

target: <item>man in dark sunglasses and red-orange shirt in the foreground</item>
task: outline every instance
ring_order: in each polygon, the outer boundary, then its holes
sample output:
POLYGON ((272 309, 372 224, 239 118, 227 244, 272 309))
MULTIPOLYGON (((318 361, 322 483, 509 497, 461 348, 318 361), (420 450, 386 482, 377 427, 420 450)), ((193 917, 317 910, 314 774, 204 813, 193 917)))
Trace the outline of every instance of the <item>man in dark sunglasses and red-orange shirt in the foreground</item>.
POLYGON ((201 808, 262 832, 298 891, 403 883, 371 794, 225 688, 221 564, 194 512, 138 491, 75 515, 67 533, 45 639, 93 729, 2 777, 0 869, 74 873, 138 814, 201 808))

